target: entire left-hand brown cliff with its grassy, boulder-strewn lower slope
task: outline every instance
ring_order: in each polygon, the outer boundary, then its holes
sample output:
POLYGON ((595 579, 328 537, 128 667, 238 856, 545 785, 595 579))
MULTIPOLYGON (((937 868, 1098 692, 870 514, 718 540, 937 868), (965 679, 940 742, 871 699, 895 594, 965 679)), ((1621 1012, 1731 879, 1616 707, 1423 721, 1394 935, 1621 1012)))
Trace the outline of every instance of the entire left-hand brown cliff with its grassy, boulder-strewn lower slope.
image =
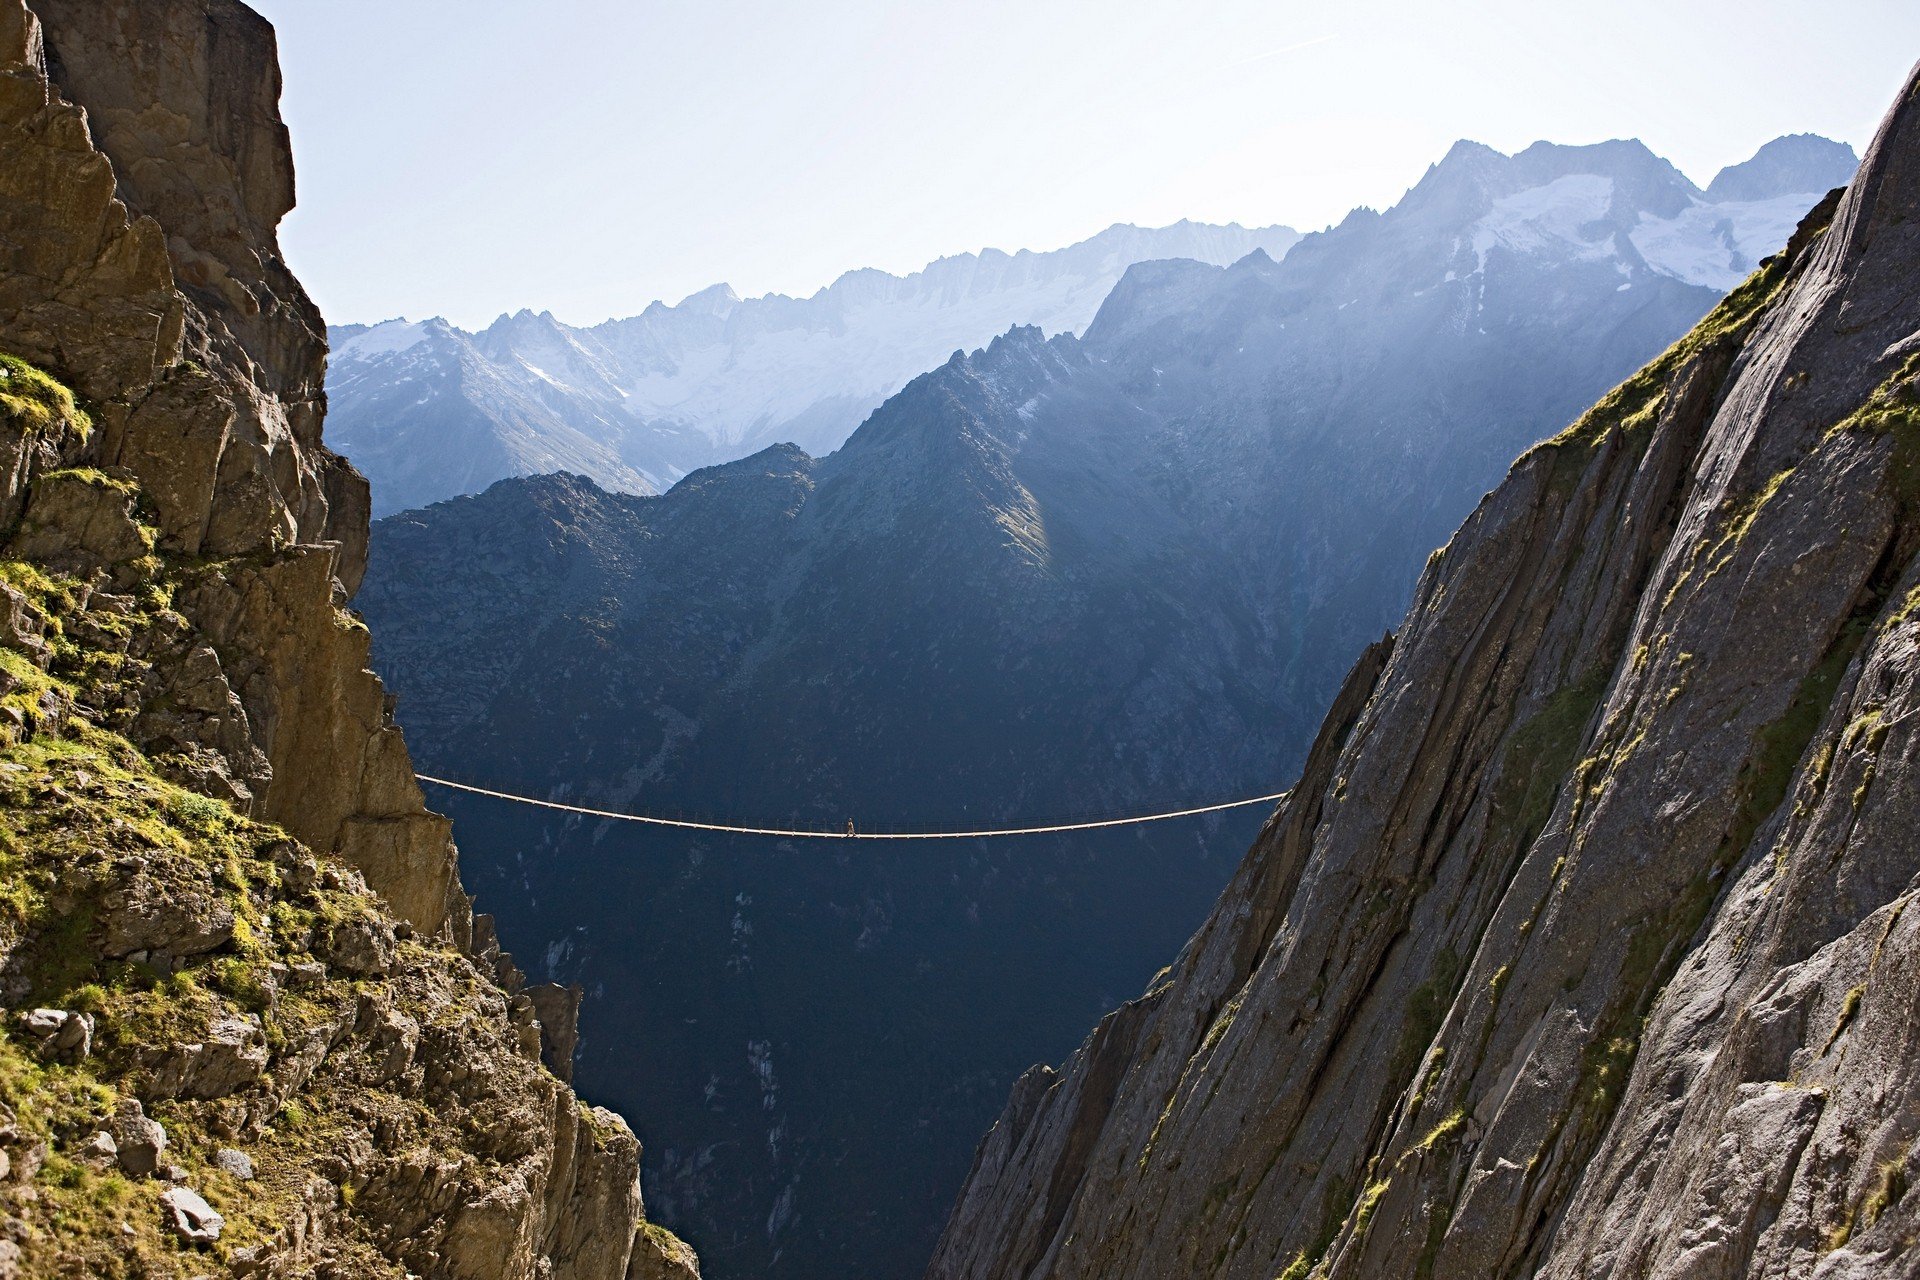
POLYGON ((276 100, 232 0, 0 2, 0 1276, 691 1276, 344 608, 276 100))

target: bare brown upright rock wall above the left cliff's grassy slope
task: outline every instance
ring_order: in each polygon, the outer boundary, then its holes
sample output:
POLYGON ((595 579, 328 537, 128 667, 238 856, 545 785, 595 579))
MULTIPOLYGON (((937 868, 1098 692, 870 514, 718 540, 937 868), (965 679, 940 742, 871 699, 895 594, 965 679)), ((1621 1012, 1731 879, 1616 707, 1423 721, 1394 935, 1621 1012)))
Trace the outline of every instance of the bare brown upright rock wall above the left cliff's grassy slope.
MULTIPOLYGON (((21 42, 15 65, 38 59, 52 79, 35 94, 35 71, 21 77, 42 173, 19 192, 15 242, 86 226, 109 246, 56 242, 23 263, 42 284, 8 317, 6 340, 79 370, 69 376, 100 420, 86 461, 140 486, 157 547, 228 562, 182 604, 240 672, 265 756, 234 791, 305 844, 365 856, 415 925, 459 929, 461 904, 420 902, 407 885, 451 887, 447 831, 424 816, 365 647, 332 635, 334 595, 365 566, 367 493, 321 443, 324 326, 275 242, 294 173, 273 29, 240 4, 36 12, 46 54, 21 42), (117 361, 90 355, 100 317, 125 345, 117 361)), ((33 15, 15 21, 25 40, 33 15)))

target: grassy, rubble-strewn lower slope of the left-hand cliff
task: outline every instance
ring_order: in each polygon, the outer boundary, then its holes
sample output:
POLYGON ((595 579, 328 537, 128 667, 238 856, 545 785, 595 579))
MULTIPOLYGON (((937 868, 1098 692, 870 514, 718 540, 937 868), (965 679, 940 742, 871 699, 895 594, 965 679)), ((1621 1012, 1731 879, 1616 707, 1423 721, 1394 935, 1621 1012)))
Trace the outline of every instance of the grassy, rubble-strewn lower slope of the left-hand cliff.
POLYGON ((0 647, 0 1199, 25 1274, 244 1268, 313 1213, 334 1219, 340 1274, 417 1272, 413 1232, 445 1228, 426 1197, 524 1176, 559 1086, 449 942, 396 927, 359 873, 182 789, 129 739, 190 629, 171 572, 129 560, 108 593, 0 562, 35 618, 0 647), (25 1019, 42 1007, 88 1015, 88 1050, 50 1054, 25 1019), (90 1151, 132 1100, 165 1130, 167 1178, 90 1151), (169 1184, 225 1217, 217 1244, 171 1230, 169 1184))

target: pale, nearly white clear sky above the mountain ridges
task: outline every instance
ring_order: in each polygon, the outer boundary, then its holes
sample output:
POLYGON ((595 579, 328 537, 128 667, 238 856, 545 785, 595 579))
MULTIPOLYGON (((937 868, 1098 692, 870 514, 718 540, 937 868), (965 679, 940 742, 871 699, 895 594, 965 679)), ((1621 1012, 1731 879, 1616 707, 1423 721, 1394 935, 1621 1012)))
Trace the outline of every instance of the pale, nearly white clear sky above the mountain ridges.
POLYGON ((1864 150, 1912 0, 252 0, 330 320, 632 315, 718 280, 1338 221, 1455 138, 1638 136, 1707 182, 1864 150))

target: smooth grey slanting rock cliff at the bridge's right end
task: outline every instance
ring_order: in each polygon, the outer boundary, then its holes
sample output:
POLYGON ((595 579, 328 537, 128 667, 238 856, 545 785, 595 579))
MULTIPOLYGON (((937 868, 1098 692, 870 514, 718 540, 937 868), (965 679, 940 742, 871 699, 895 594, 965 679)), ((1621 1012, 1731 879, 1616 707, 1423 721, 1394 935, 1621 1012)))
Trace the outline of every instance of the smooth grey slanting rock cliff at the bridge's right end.
POLYGON ((1912 1276, 1920 79, 1528 451, 929 1274, 1912 1276))

